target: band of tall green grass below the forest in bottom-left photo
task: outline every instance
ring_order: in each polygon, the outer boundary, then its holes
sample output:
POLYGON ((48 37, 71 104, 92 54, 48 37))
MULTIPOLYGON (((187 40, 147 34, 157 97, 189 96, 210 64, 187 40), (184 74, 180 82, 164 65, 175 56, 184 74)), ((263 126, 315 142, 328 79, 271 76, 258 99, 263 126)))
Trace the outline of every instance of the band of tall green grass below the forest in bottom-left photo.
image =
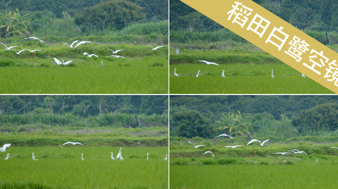
MULTIPOLYGON (((168 114, 141 114, 137 116, 141 122, 151 122, 151 126, 168 126, 168 114)), ((0 126, 6 124, 15 126, 27 124, 45 124, 47 126, 63 127, 121 127, 135 124, 133 114, 128 113, 105 113, 97 116, 80 117, 72 114, 20 114, 0 115, 0 126)))

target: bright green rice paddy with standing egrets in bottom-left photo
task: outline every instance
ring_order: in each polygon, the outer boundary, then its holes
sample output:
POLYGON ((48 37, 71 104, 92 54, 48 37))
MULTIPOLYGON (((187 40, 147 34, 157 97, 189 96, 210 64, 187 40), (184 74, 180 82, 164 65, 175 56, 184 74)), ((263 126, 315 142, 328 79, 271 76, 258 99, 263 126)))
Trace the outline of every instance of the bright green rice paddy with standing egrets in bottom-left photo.
POLYGON ((1 153, 0 188, 166 189, 168 147, 8 147, 1 153), (8 160, 4 160, 9 153, 8 160), (32 153, 39 160, 32 159, 32 153), (81 160, 84 153, 84 160, 81 160), (149 153, 149 160, 147 160, 149 153))

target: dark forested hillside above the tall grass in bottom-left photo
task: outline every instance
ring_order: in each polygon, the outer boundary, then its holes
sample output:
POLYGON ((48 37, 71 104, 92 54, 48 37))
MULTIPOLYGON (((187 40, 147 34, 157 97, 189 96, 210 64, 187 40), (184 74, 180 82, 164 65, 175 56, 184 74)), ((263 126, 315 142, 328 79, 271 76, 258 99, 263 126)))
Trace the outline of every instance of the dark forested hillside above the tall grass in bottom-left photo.
POLYGON ((100 113, 163 114, 168 112, 168 97, 162 95, 1 95, 0 112, 6 114, 24 107, 23 113, 70 113, 96 116, 100 113))

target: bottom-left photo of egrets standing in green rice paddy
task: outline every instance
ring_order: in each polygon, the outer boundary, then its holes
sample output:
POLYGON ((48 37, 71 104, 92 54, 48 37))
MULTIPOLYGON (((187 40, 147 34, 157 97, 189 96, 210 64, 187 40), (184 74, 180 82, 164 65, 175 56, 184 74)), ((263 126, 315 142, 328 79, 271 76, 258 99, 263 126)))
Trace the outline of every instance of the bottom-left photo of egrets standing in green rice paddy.
POLYGON ((168 95, 0 95, 0 188, 168 189, 168 95))

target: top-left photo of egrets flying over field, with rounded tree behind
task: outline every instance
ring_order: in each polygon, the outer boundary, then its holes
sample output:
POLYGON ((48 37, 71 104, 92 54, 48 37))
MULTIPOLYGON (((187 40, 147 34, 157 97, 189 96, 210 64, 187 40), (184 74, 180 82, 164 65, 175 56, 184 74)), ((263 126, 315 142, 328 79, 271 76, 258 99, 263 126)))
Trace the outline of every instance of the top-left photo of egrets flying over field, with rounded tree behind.
POLYGON ((168 4, 3 3, 0 94, 168 94, 168 4))

